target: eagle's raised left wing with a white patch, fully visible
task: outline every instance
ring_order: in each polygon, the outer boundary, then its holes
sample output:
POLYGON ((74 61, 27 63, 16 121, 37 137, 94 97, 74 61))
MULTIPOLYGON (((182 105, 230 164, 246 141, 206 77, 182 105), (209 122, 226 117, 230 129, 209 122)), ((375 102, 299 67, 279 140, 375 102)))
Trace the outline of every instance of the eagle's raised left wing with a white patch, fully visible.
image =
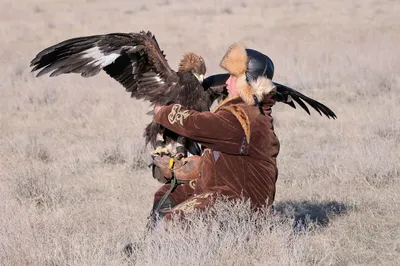
POLYGON ((158 101, 179 77, 168 65, 151 32, 111 33, 68 39, 50 46, 31 61, 37 77, 80 73, 92 77, 104 70, 137 99, 158 101))

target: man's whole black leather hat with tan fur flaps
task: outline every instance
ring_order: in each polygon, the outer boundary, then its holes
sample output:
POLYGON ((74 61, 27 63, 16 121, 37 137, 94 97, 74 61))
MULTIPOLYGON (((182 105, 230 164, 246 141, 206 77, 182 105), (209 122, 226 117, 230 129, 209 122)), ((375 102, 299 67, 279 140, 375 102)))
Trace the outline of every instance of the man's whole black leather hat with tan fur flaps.
POLYGON ((258 51, 234 43, 222 58, 220 66, 237 77, 238 94, 248 105, 257 104, 254 96, 262 102, 265 94, 275 90, 272 83, 274 64, 258 51))

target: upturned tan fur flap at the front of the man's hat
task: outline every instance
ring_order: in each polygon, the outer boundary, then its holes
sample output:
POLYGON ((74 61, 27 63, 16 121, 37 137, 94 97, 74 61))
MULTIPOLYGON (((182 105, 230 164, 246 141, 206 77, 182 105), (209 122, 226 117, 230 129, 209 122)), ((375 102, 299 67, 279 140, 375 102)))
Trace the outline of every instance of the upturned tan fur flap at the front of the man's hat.
POLYGON ((220 66, 238 77, 247 71, 247 60, 246 48, 241 44, 234 43, 225 53, 220 66))

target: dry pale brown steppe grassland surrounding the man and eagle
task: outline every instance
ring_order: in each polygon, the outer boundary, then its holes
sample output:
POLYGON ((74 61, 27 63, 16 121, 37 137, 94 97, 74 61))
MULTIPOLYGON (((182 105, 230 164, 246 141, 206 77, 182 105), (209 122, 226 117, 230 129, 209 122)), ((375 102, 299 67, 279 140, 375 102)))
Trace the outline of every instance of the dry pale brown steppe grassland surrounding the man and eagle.
POLYGON ((399 265, 400 2, 0 7, 2 265, 399 265), (309 116, 274 108, 278 218, 221 202, 215 218, 194 215, 185 230, 162 224, 140 242, 160 186, 142 137, 149 103, 104 73, 36 79, 29 68, 37 52, 64 39, 140 30, 156 35, 174 69, 194 51, 208 74, 222 71, 224 52, 242 41, 273 59, 275 81, 336 112, 329 120, 312 109, 309 116), (293 229, 304 217, 307 228, 293 229), (142 246, 126 260, 129 241, 142 246))

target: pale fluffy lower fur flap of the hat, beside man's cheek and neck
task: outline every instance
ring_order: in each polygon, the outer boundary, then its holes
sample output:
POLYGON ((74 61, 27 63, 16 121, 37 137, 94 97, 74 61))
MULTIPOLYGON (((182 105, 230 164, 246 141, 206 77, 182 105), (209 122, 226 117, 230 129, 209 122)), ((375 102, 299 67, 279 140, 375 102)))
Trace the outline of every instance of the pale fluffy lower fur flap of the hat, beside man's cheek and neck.
POLYGON ((259 102, 264 98, 265 94, 268 94, 276 89, 272 80, 265 76, 260 76, 256 81, 247 83, 246 77, 240 76, 236 81, 236 88, 239 96, 243 99, 245 103, 252 106, 255 105, 253 95, 255 95, 259 102))

